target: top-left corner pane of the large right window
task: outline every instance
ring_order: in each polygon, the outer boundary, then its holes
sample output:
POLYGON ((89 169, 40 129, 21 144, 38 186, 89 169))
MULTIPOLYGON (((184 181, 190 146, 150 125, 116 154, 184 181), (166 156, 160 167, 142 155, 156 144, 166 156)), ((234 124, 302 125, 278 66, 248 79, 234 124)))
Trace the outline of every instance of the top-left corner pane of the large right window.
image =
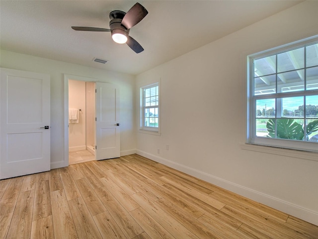
POLYGON ((276 56, 267 56, 254 61, 254 77, 274 74, 276 72, 276 56))

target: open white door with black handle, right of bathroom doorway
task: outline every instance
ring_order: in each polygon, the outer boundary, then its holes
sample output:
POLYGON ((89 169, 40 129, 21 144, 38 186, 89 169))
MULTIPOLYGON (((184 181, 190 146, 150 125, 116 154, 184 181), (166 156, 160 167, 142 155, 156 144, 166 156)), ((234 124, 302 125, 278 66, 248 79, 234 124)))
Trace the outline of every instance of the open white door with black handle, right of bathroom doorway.
POLYGON ((95 159, 120 157, 119 94, 112 84, 96 82, 95 159))

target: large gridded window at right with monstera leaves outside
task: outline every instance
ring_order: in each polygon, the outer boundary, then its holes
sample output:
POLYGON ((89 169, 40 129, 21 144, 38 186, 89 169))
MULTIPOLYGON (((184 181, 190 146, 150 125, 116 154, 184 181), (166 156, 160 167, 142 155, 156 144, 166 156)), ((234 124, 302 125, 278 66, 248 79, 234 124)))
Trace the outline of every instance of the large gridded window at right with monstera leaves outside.
POLYGON ((318 38, 248 61, 247 142, 318 151, 318 38))

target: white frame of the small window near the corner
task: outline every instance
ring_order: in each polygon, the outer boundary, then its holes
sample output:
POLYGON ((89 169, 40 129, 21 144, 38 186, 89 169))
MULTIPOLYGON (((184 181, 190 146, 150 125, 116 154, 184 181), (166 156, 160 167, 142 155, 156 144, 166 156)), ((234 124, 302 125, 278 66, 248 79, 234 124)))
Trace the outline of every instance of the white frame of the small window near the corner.
MULTIPOLYGON (((139 132, 141 133, 148 133, 148 134, 154 134, 154 135, 160 135, 160 83, 152 83, 150 85, 142 86, 140 88, 140 128, 139 132), (145 95, 144 95, 144 90, 153 88, 158 86, 158 97, 159 97, 159 103, 156 106, 158 108, 158 127, 152 127, 152 126, 146 126, 145 125, 145 109, 149 108, 145 106, 145 95)), ((150 107, 152 108, 152 106, 150 107)))

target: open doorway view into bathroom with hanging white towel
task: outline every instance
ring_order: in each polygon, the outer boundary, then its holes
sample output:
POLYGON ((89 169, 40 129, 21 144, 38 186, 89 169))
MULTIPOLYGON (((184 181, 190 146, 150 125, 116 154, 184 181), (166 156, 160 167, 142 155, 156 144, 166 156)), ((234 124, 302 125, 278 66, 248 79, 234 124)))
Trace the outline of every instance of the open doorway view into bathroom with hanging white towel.
POLYGON ((95 83, 69 79, 69 164, 95 160, 95 83))

